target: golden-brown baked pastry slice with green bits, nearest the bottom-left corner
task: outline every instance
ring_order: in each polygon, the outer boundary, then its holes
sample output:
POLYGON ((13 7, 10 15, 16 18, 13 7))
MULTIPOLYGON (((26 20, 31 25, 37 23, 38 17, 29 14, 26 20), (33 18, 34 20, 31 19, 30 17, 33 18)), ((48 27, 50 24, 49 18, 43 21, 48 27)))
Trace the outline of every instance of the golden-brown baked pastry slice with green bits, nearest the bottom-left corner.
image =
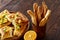
POLYGON ((10 26, 4 26, 0 28, 1 40, 13 36, 13 28, 10 26))

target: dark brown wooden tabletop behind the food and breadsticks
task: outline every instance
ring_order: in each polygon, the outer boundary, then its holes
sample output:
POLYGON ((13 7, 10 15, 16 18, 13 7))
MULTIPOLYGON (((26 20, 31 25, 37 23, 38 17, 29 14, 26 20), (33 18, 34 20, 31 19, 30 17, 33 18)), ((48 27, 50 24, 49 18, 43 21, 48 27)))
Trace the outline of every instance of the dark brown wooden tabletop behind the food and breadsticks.
MULTIPOLYGON (((0 0, 0 12, 4 9, 9 11, 21 11, 29 19, 27 10, 32 10, 32 4, 41 5, 43 0, 0 0)), ((44 0, 52 11, 46 26, 46 40, 60 40, 60 0, 44 0)), ((30 27, 31 29, 31 27, 30 27)))

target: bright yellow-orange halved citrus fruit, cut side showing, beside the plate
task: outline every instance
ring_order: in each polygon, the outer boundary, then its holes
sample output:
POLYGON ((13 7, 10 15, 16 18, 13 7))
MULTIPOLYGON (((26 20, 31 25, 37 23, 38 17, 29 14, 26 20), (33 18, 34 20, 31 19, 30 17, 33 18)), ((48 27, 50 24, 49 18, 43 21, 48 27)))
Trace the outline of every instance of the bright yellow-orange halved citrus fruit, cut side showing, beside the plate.
POLYGON ((25 33, 24 40, 35 40, 36 37, 37 37, 36 32, 33 30, 30 30, 25 33))

